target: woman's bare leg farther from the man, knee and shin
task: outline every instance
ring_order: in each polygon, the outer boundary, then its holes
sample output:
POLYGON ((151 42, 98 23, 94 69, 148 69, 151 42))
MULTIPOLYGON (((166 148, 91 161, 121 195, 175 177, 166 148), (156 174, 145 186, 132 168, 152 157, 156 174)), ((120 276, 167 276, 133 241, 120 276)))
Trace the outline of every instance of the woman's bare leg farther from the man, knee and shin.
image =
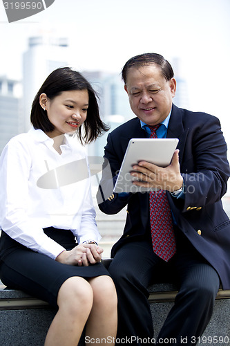
POLYGON ((57 304, 45 346, 77 346, 93 306, 93 289, 84 278, 70 277, 59 289, 57 304))

